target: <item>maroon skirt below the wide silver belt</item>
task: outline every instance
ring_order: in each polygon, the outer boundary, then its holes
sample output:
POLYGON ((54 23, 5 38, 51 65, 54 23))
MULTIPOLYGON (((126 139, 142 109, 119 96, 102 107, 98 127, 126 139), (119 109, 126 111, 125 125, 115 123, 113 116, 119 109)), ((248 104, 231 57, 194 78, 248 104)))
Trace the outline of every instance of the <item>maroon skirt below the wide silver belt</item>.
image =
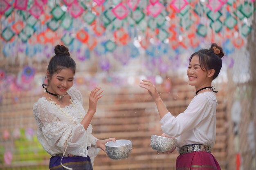
POLYGON ((220 170, 220 166, 210 152, 198 151, 179 155, 176 170, 220 170))

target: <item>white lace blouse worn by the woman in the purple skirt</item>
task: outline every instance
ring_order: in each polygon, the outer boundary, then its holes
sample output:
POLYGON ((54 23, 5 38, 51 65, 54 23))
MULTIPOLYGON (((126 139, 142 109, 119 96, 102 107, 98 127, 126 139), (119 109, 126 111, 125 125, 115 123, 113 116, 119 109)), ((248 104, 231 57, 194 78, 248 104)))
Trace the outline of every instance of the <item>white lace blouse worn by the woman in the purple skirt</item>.
POLYGON ((64 153, 66 149, 65 154, 82 157, 89 155, 93 164, 94 157, 100 149, 92 147, 92 145, 96 146, 98 140, 92 136, 92 125, 90 124, 85 130, 80 124, 81 116, 85 116, 85 110, 82 106, 83 97, 80 91, 74 87, 71 87, 67 93, 73 104, 64 108, 58 108, 45 97, 41 97, 34 104, 33 113, 38 125, 38 141, 45 151, 52 156, 64 153))

